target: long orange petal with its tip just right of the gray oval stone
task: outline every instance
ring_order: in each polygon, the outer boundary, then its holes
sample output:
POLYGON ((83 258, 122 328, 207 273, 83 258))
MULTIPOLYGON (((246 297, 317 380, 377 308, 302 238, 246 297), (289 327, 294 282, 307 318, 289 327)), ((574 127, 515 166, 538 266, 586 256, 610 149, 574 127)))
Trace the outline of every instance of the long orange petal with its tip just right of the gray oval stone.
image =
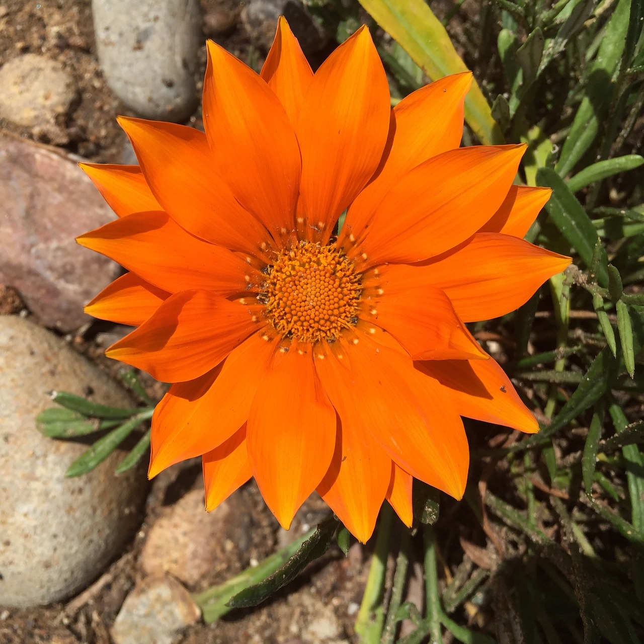
POLYGON ((265 81, 218 44, 207 46, 204 127, 218 169, 240 204, 279 239, 294 226, 298 200, 293 126, 265 81))

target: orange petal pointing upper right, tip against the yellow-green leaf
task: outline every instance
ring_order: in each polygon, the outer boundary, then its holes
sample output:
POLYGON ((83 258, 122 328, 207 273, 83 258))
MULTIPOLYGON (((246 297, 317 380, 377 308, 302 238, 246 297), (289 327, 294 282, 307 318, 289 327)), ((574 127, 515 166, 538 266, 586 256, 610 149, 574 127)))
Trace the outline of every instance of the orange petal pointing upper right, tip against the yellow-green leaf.
POLYGON ((363 229, 401 176, 432 156, 459 147, 463 104, 471 84, 470 71, 446 76, 406 96, 393 108, 383 160, 372 182, 351 204, 340 243, 363 229))

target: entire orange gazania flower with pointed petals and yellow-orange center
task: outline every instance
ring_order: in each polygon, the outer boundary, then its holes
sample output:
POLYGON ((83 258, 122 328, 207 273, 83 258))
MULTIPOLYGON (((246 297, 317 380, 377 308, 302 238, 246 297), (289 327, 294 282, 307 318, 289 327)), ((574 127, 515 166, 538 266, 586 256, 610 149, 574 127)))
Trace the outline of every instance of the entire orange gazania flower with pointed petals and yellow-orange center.
POLYGON ((283 19, 260 75, 208 53, 205 134, 121 118, 140 166, 84 165, 119 218, 79 243, 129 270, 86 310, 173 383, 149 475, 201 456, 207 509, 254 477, 284 527, 314 490, 362 541, 384 499, 410 525, 413 477, 462 497, 461 416, 538 429, 464 323, 569 263, 522 240, 549 191, 512 185, 524 146, 459 149, 469 73, 390 109, 364 27, 315 74, 283 19))

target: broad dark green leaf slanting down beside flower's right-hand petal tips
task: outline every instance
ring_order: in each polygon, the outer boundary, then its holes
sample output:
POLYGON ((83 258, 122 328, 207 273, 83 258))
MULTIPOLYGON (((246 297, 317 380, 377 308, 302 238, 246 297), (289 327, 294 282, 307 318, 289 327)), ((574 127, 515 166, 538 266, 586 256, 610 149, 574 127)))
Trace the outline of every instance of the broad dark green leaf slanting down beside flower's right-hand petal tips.
MULTIPOLYGON (((590 266, 599 237, 582 204, 553 169, 540 168, 536 173, 536 180, 539 185, 553 189, 553 196, 545 204, 545 208, 559 232, 578 252, 586 265, 590 266)), ((597 278, 602 286, 607 285, 608 272, 601 263, 597 268, 597 278)))

